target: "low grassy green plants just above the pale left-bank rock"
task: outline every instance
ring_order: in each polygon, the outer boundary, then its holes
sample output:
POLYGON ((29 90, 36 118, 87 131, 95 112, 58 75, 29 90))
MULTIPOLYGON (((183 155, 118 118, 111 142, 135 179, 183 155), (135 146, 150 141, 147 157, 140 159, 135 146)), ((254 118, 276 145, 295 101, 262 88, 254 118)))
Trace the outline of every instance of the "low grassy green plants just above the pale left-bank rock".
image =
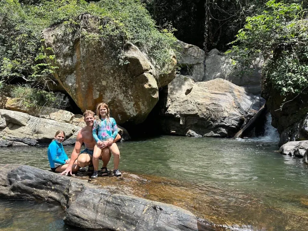
POLYGON ((19 105, 27 108, 37 108, 39 106, 50 106, 56 100, 52 92, 35 89, 25 84, 16 85, 10 92, 11 96, 19 99, 19 105))

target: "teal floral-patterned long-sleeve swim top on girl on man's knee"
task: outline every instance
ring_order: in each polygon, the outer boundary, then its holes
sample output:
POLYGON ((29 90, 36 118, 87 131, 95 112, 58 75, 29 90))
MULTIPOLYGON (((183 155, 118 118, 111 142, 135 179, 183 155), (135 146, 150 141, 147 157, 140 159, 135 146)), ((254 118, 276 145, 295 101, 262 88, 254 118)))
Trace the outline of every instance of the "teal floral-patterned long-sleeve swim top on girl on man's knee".
POLYGON ((94 121, 92 128, 92 135, 97 143, 100 141, 108 140, 109 138, 115 139, 118 134, 118 127, 116 126, 115 119, 101 119, 100 124, 97 123, 97 120, 94 121))

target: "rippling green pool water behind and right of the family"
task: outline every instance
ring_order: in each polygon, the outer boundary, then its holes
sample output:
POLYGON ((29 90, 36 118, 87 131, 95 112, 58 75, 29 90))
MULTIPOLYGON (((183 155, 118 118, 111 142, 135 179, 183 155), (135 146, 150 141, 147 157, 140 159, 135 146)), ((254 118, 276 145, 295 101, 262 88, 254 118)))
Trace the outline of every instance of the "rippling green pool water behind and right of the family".
MULTIPOLYGON (((161 136, 118 146, 122 171, 176 179, 195 193, 192 212, 200 217, 259 230, 308 230, 308 167, 278 153, 277 143, 161 136)), ((70 156, 72 147, 65 150, 70 156)), ((48 169, 47 147, 2 148, 0 163, 48 169)))

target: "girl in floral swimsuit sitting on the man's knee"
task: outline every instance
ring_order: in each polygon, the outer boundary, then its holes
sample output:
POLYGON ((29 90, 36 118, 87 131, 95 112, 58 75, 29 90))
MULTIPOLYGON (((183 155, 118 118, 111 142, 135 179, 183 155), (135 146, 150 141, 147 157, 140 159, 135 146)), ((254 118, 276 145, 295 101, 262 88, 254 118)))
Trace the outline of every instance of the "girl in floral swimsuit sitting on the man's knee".
POLYGON ((106 103, 99 103, 96 107, 96 116, 93 124, 92 135, 96 141, 92 164, 94 172, 91 178, 96 178, 98 176, 98 164, 99 156, 101 155, 102 150, 99 146, 102 144, 102 141, 108 141, 108 148, 114 156, 114 170, 113 173, 115 176, 121 176, 121 172, 118 169, 120 162, 120 151, 118 146, 115 143, 112 143, 118 134, 118 127, 116 126, 115 119, 110 117, 109 107, 106 103))

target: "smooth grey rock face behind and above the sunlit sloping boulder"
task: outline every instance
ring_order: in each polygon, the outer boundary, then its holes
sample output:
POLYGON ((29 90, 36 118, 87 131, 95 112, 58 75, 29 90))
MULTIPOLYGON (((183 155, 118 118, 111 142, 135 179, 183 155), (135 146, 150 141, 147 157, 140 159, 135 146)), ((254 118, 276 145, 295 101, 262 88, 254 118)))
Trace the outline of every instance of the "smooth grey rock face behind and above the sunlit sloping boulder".
POLYGON ((235 65, 236 61, 229 55, 225 55, 217 49, 211 50, 205 59, 205 77, 203 81, 209 81, 216 78, 226 79, 237 86, 245 87, 245 90, 252 94, 261 93, 261 67, 263 62, 256 59, 252 72, 241 73, 241 70, 235 65))

